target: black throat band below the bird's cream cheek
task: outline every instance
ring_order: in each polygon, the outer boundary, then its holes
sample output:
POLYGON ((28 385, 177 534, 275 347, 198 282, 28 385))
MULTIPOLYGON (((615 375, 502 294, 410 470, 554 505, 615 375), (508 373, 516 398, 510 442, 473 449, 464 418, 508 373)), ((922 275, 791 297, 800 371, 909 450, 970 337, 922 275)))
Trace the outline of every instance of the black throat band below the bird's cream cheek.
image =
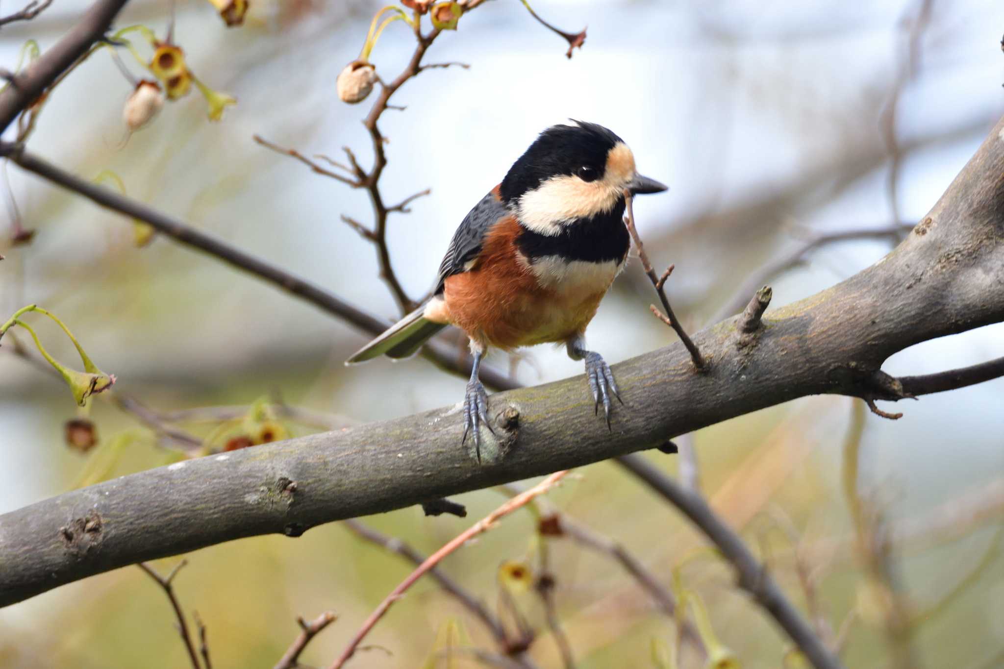
POLYGON ((521 224, 516 247, 531 263, 543 256, 558 256, 569 262, 620 263, 631 248, 623 215, 621 198, 609 212, 562 224, 558 235, 542 235, 521 224))

